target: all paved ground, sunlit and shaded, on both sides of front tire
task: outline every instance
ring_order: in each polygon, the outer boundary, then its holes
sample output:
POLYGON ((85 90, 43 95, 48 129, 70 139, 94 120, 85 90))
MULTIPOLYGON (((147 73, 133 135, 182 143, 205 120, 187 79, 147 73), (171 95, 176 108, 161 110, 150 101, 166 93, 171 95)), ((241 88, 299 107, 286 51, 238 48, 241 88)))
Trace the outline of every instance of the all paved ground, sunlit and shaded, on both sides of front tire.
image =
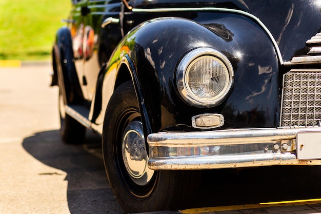
MULTIPOLYGON (((101 139, 89 131, 84 145, 59 138, 50 72, 48 64, 0 68, 0 213, 123 213, 106 178, 101 139)), ((260 204, 320 199, 320 181, 319 166, 208 170, 185 208, 220 208, 162 213, 320 213, 321 201, 260 204)))

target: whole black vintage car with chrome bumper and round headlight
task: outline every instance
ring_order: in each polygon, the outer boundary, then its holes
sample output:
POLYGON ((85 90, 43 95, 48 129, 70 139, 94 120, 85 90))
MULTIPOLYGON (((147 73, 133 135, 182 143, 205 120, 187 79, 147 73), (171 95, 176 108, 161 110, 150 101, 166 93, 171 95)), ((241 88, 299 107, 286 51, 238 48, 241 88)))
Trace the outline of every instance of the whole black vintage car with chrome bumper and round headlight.
POLYGON ((102 135, 126 212, 184 206, 200 169, 321 165, 321 1, 73 0, 61 135, 102 135))

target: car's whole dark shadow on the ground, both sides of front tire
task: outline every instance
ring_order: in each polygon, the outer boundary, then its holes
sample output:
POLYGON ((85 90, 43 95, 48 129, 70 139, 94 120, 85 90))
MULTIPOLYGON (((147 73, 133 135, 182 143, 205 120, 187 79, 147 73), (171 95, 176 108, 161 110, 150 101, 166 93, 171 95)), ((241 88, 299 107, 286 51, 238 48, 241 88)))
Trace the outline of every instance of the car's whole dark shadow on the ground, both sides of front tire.
MULTIPOLYGON (((92 153, 99 153, 99 137, 91 134, 85 145, 66 145, 59 138, 59 131, 52 130, 26 138, 23 146, 37 160, 67 173, 67 200, 71 213, 123 213, 110 189, 102 159, 92 153)), ((320 166, 206 170, 194 203, 188 206, 321 198, 320 179, 320 166)))

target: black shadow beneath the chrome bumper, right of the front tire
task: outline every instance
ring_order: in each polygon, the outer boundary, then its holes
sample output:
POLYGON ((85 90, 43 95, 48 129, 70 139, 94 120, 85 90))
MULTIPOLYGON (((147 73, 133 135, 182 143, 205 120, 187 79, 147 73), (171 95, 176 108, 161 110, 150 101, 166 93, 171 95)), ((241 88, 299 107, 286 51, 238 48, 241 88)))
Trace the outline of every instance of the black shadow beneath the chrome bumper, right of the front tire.
POLYGON ((198 207, 321 198, 321 166, 265 166, 203 171, 198 207), (207 184, 207 185, 205 185, 207 184))

